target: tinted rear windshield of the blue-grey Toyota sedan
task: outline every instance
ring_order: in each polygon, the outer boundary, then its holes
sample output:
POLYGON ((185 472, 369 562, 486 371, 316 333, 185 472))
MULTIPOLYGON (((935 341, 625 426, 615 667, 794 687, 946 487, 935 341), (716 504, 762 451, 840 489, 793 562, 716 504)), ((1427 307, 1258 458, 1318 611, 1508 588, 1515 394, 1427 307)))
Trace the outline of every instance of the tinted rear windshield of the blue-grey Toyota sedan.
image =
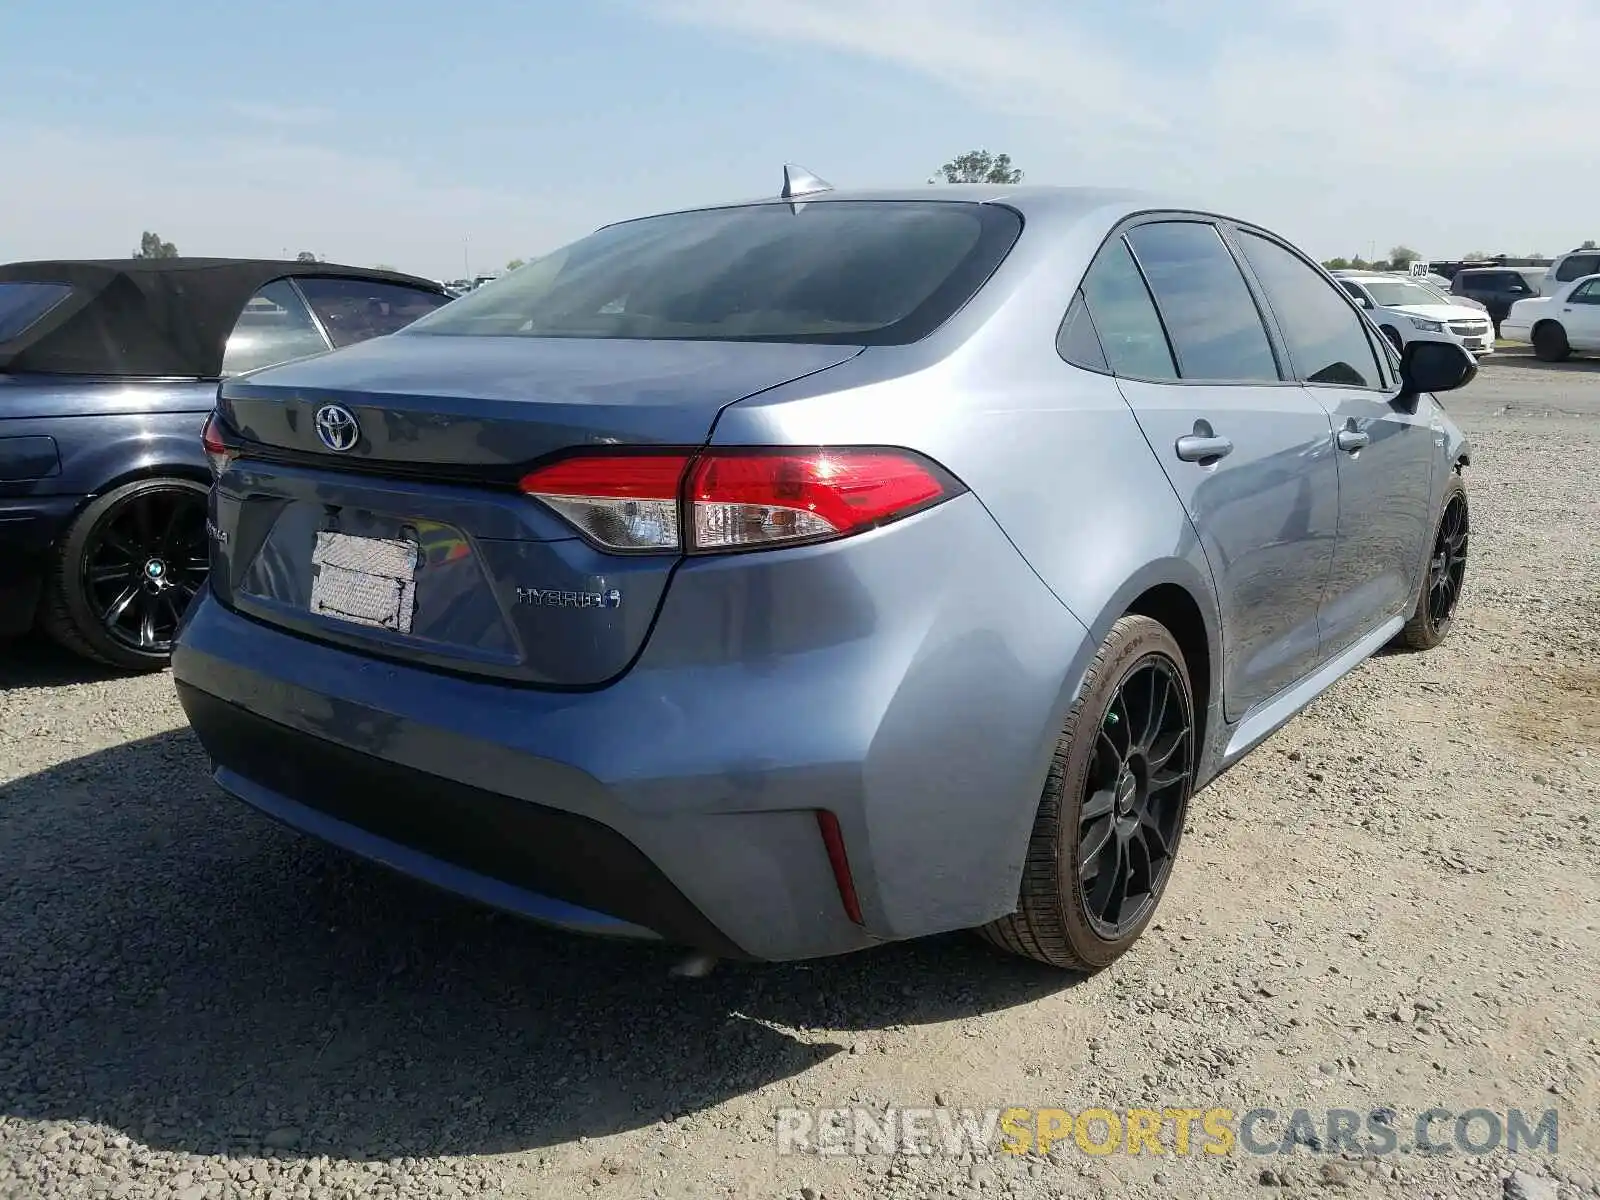
POLYGON ((1021 229, 1010 208, 923 200, 651 216, 536 259, 403 336, 902 344, 971 299, 1021 229))

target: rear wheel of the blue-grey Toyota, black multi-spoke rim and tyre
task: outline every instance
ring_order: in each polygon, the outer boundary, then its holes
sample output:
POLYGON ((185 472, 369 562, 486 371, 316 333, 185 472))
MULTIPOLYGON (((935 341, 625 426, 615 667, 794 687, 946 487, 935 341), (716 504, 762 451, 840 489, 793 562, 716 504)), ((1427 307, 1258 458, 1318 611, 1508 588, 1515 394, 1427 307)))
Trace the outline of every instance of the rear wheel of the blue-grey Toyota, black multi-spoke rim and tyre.
POLYGON ((1064 970, 1098 971, 1115 962, 1160 904, 1197 760, 1182 650, 1160 622, 1122 618, 1090 664, 1056 742, 1018 907, 979 933, 1000 949, 1064 970), (1130 778, 1133 794, 1126 795, 1130 778), (1094 843, 1106 848, 1094 851, 1094 843), (1157 845, 1165 850, 1160 862, 1157 845), (1094 866, 1080 869, 1085 858, 1094 866), (1133 891, 1110 912, 1107 898, 1118 877, 1133 891))

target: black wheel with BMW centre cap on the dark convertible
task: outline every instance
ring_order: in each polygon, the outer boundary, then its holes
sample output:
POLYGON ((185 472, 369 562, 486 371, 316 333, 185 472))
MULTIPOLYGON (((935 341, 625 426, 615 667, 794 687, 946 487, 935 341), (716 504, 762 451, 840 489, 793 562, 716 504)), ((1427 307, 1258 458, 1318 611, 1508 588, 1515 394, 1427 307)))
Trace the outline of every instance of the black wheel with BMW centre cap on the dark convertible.
POLYGON ((45 634, 118 670, 166 667, 182 611, 205 582, 206 491, 192 478, 141 478, 83 506, 56 546, 45 634))

